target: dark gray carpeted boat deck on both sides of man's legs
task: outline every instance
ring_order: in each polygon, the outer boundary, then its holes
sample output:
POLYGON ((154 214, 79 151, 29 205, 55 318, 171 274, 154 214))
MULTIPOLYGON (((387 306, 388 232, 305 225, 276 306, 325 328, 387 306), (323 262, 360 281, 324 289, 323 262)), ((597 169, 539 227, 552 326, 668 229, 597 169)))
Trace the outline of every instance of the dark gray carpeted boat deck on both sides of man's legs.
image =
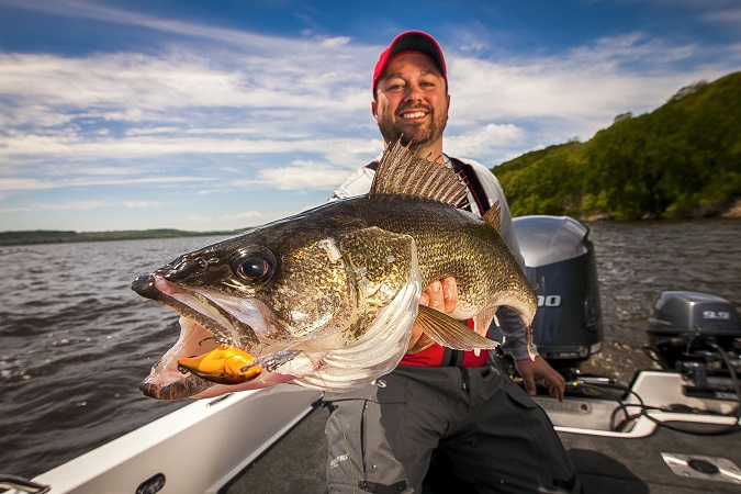
MULTIPOLYGON (((326 493, 324 425, 327 416, 326 408, 312 412, 221 493, 326 493)), ((686 428, 687 425, 677 424, 677 427, 686 428)), ((700 430, 701 426, 694 427, 699 433, 719 429, 718 425, 706 427, 705 430, 700 430)), ((564 431, 559 435, 580 472, 584 494, 741 492, 741 483, 707 479, 714 474, 687 469, 691 471, 689 476, 686 473, 677 475, 662 458, 662 453, 688 452, 694 458, 717 458, 722 452, 723 458, 739 465, 741 434, 738 431, 708 437, 661 427, 640 440, 564 431)), ((715 475, 717 478, 718 474, 715 475)), ((462 491, 458 492, 464 494, 462 491)))

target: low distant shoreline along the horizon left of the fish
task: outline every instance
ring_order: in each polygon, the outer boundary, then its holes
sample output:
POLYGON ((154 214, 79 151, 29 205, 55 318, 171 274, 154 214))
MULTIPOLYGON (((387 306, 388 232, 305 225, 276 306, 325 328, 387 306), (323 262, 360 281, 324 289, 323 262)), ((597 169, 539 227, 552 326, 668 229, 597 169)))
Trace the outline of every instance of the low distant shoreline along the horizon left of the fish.
POLYGON ((234 235, 233 232, 184 232, 182 229, 132 229, 117 232, 67 232, 67 231, 29 231, 29 232, 0 232, 0 246, 2 245, 27 245, 27 244, 61 244, 68 242, 106 242, 106 240, 135 240, 143 238, 177 238, 177 237, 202 237, 206 235, 234 235))

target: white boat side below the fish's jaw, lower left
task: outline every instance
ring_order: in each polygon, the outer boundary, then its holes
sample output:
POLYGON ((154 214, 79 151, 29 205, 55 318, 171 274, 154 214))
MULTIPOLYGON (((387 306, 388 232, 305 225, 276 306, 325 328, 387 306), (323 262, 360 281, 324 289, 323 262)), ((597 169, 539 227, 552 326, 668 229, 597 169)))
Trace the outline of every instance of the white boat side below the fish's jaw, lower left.
POLYGON ((34 481, 50 485, 53 494, 215 494, 321 397, 319 391, 281 384, 197 401, 34 481))

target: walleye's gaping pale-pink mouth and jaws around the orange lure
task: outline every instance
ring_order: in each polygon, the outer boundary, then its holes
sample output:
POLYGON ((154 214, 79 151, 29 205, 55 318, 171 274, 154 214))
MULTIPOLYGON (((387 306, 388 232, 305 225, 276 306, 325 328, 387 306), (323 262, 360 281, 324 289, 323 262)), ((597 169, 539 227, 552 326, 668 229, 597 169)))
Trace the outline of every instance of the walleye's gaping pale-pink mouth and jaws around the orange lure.
MULTIPOLYGON (((134 280, 132 290, 181 316, 177 343, 153 366, 149 375, 139 385, 145 396, 170 401, 221 394, 229 386, 187 371, 180 360, 209 353, 225 345, 251 352, 261 348, 252 327, 235 315, 265 321, 257 310, 252 308, 252 314, 240 314, 236 301, 183 288, 157 272, 134 280)), ((245 311, 245 307, 239 308, 245 311)), ((288 361, 288 358, 284 360, 288 361)), ((276 367, 273 364, 273 369, 276 367)))

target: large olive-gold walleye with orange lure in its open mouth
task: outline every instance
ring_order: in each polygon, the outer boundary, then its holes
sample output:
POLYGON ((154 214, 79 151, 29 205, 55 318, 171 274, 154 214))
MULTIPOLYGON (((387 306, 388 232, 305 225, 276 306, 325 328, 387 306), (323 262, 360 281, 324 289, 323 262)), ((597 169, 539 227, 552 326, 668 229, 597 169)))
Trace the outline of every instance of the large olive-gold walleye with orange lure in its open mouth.
MULTIPOLYGON (((132 284, 180 317, 176 345, 142 383, 177 400, 281 382, 347 391, 391 371, 416 321, 420 344, 494 348, 499 305, 528 335, 537 303, 497 229, 459 209, 467 189, 445 165, 396 144, 367 195, 326 203, 184 254, 132 284), (452 276, 452 317, 419 306, 423 288, 452 276), (474 332, 456 319, 473 317, 474 332)), ((416 347, 418 348, 419 345, 416 347)))

